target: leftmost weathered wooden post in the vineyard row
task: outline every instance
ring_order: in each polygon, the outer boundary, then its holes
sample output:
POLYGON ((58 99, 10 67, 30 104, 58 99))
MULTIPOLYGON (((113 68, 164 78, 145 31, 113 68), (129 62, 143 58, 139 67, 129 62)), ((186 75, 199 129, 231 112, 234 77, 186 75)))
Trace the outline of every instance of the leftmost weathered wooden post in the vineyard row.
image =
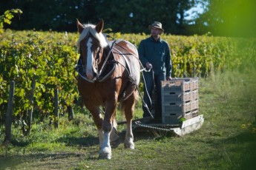
POLYGON ((9 142, 11 137, 11 126, 12 126, 12 115, 13 115, 13 98, 14 98, 14 90, 15 90, 15 81, 10 82, 10 92, 9 99, 7 105, 7 113, 5 120, 5 138, 4 142, 9 142))

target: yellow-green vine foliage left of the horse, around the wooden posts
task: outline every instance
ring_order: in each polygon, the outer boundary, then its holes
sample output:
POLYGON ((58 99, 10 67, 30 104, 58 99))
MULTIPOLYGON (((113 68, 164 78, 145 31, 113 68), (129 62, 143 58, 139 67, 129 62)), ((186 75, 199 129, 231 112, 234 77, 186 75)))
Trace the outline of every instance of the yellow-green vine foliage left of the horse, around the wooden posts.
POLYGON ((59 89, 59 111, 72 106, 78 95, 73 76, 78 54, 73 40, 64 33, 6 33, 0 43, 1 115, 7 106, 10 81, 16 81, 16 116, 26 114, 31 106, 42 115, 53 112, 55 87, 59 89), (34 103, 30 103, 33 81, 36 81, 34 103))

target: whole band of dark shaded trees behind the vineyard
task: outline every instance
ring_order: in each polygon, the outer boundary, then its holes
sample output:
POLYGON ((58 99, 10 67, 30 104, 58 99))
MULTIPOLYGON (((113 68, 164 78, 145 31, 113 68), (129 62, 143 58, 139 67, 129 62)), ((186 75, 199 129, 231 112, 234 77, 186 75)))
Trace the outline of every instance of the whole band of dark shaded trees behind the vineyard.
POLYGON ((17 7, 23 11, 20 21, 10 26, 15 30, 76 31, 75 21, 97 23, 113 32, 147 33, 148 24, 160 21, 165 33, 186 32, 184 19, 200 0, 3 0, 2 9, 17 7))

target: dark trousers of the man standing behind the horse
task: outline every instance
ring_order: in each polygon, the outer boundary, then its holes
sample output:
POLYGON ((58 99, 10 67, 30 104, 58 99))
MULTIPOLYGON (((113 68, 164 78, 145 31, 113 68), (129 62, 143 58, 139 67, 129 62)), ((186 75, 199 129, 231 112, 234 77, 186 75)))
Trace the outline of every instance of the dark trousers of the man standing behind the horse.
MULTIPOLYGON (((161 118, 162 116, 162 102, 161 102, 161 81, 165 81, 165 74, 156 75, 151 72, 143 72, 145 81, 144 81, 144 96, 143 100, 148 105, 148 109, 151 110, 150 98, 152 97, 152 92, 155 89, 156 92, 156 104, 155 104, 155 118, 161 118), (147 95, 150 96, 150 98, 147 95)), ((145 106, 142 106, 143 109, 143 118, 150 116, 148 109, 145 106)))

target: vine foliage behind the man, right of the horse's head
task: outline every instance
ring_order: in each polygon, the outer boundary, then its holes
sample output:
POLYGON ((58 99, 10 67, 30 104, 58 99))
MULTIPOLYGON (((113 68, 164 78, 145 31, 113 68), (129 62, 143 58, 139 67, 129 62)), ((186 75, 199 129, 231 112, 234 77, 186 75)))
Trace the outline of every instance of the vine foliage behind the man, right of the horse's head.
MULTIPOLYGON (((137 47, 149 35, 110 34, 137 47)), ((211 72, 256 66, 255 38, 226 38, 209 35, 161 35, 171 48, 172 77, 207 77, 211 72)))

